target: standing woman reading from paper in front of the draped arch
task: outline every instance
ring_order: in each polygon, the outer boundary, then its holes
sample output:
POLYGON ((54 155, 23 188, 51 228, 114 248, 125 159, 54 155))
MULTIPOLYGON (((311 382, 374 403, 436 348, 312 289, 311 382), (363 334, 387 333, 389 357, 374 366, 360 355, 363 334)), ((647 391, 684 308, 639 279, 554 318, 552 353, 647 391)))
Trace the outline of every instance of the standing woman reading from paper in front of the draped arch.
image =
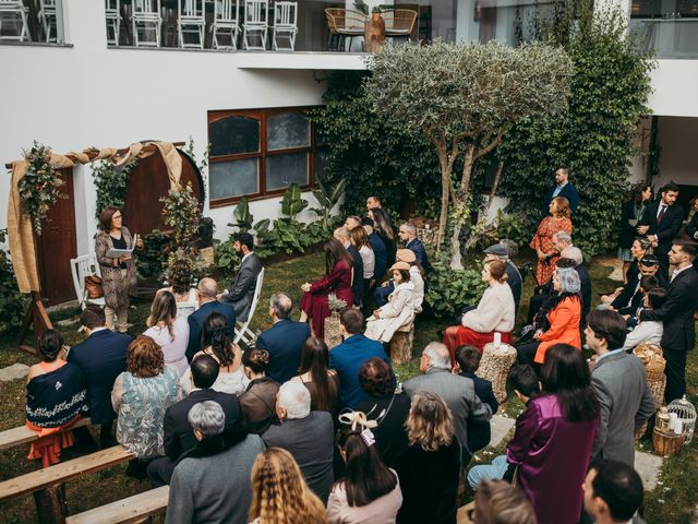
MULTIPOLYGON (((105 291, 107 327, 124 333, 129 322, 129 290, 135 286, 135 263, 131 255, 107 257, 111 249, 130 249, 131 233, 122 226, 122 213, 117 207, 105 207, 99 214, 100 231, 95 237, 95 254, 105 291)), ((142 245, 139 240, 139 247, 142 245)))

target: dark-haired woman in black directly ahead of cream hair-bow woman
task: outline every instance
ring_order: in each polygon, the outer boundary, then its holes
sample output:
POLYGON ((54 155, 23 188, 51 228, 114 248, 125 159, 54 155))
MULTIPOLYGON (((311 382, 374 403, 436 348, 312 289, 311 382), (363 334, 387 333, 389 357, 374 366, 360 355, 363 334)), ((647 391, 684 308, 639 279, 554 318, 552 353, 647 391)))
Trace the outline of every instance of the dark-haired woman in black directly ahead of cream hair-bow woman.
POLYGON ((405 421, 410 410, 410 397, 396 391, 395 383, 393 369, 377 357, 366 360, 359 370, 359 384, 368 396, 357 405, 357 412, 375 421, 371 431, 381 458, 388 467, 397 466, 409 445, 405 421))

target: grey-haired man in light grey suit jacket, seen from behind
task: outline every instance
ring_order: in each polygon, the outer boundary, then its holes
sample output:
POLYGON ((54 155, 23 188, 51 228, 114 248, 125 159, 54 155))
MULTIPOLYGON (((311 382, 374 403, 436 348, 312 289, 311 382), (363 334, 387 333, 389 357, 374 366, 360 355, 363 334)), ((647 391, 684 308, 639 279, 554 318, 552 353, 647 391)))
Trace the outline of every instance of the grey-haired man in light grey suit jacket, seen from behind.
POLYGON ((424 390, 441 396, 454 417, 454 432, 461 449, 461 462, 470 461, 468 450, 468 421, 486 422, 492 418, 490 406, 476 395, 472 379, 450 372, 450 353, 441 342, 432 342, 422 352, 419 369, 424 374, 411 378, 402 384, 411 397, 416 391, 424 390))

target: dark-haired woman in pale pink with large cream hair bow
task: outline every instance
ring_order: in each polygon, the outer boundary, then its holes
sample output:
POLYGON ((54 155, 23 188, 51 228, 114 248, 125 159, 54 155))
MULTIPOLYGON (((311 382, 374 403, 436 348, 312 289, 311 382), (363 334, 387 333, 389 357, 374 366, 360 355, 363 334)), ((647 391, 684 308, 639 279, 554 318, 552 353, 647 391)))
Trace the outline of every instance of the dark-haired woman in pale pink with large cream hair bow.
POLYGON ((337 436, 346 474, 337 480, 327 501, 329 524, 395 522, 402 503, 397 474, 381 460, 370 429, 361 426, 357 413, 340 418, 351 421, 337 436))

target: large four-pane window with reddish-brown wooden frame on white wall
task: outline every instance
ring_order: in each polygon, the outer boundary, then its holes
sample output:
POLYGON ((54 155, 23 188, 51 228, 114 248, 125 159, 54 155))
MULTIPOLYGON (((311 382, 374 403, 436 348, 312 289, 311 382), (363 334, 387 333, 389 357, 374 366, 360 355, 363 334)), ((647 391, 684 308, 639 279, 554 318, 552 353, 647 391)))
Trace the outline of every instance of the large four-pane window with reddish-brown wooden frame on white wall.
POLYGON ((324 166, 323 141, 302 108, 210 111, 208 142, 212 207, 279 194, 291 183, 309 188, 324 166))

